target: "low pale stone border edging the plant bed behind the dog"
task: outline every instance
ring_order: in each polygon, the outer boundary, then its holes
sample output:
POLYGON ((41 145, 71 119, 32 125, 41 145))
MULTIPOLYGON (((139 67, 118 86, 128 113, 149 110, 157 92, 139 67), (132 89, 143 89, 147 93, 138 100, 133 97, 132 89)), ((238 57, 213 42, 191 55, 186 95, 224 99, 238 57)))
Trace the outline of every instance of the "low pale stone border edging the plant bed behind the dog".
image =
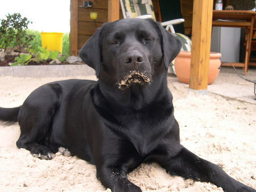
POLYGON ((94 69, 88 65, 33 65, 33 66, 0 66, 0 77, 72 77, 92 76, 94 69))

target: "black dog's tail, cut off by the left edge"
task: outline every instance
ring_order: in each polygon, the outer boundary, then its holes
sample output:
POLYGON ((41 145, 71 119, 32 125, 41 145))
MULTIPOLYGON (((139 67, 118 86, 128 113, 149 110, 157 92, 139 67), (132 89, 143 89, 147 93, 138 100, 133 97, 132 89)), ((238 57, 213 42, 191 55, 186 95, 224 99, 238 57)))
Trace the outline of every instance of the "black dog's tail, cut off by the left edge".
POLYGON ((0 120, 6 122, 18 122, 18 114, 20 107, 3 108, 0 107, 0 120))

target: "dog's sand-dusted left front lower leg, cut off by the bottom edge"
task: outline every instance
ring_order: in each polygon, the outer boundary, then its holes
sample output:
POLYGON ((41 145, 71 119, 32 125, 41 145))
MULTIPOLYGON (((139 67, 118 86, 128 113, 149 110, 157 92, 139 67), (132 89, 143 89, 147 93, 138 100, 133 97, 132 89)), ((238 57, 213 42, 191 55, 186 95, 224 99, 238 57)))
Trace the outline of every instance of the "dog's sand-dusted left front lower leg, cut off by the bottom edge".
POLYGON ((121 168, 102 166, 100 170, 97 168, 97 177, 102 185, 112 191, 142 191, 137 185, 134 185, 127 179, 126 173, 121 168))

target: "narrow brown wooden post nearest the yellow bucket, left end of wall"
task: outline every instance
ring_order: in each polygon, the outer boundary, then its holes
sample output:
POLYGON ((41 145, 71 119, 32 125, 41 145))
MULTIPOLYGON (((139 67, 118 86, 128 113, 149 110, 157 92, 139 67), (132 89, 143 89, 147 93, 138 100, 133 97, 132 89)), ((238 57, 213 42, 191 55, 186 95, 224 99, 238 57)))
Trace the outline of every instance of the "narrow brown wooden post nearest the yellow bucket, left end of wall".
POLYGON ((78 0, 70 1, 70 34, 69 34, 69 53, 76 56, 78 54, 77 38, 78 38, 78 0))

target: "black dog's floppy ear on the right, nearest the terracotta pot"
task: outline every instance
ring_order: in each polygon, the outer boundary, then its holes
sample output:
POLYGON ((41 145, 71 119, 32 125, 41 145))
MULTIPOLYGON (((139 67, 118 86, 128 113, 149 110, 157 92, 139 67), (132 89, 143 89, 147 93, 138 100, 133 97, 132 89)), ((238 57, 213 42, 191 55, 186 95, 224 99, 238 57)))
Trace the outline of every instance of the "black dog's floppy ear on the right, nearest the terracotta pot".
POLYGON ((158 23, 158 27, 160 28, 162 34, 162 50, 163 50, 163 61, 164 66, 168 69, 172 60, 179 54, 181 49, 181 41, 171 32, 167 31, 160 23, 158 23))

